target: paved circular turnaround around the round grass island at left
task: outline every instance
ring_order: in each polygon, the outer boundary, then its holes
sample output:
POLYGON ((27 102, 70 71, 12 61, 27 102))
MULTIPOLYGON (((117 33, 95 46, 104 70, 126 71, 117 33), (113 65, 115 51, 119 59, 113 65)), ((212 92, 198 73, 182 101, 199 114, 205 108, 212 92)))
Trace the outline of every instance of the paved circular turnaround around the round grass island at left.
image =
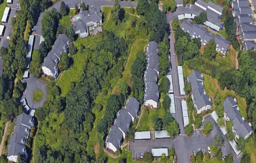
POLYGON ((35 78, 32 74, 30 74, 30 77, 28 79, 22 80, 22 83, 27 83, 27 87, 25 91, 23 92, 22 98, 26 98, 27 105, 31 109, 37 109, 43 106, 44 101, 46 101, 46 84, 44 82, 39 81, 37 78, 35 78), (42 90, 44 93, 43 98, 40 102, 35 103, 33 101, 33 92, 36 89, 42 90))

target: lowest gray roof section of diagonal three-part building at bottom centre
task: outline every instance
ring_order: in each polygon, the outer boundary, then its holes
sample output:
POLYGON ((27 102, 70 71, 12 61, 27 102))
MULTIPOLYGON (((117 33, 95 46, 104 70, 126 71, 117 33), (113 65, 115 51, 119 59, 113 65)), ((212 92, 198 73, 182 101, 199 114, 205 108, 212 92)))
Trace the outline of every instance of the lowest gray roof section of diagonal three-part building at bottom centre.
POLYGON ((116 126, 112 126, 106 138, 106 142, 112 143, 113 146, 118 149, 122 140, 123 140, 122 132, 116 126))

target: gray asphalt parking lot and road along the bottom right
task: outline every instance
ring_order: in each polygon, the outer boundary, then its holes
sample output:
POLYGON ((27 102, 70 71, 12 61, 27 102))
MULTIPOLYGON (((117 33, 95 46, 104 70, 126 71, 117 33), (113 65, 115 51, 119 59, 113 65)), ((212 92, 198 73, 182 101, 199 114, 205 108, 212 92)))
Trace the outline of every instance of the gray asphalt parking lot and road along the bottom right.
MULTIPOLYGON (((211 118, 208 116, 205 118, 204 123, 210 121, 214 127, 209 136, 203 136, 201 131, 195 131, 194 135, 191 138, 185 136, 177 136, 176 139, 150 139, 150 140, 135 140, 130 142, 130 150, 137 153, 141 151, 151 151, 152 148, 171 148, 174 147, 177 153, 177 159, 179 163, 189 163, 190 161, 190 152, 192 150, 197 150, 200 148, 204 152, 207 151, 207 147, 213 144, 213 139, 215 135, 221 134, 220 129, 211 118)), ((222 134, 221 134, 222 135, 222 134)), ((222 147, 223 154, 229 155, 233 153, 233 150, 229 144, 225 144, 222 147)), ((139 155, 140 156, 140 155, 139 155)), ((234 155, 233 155, 234 156, 234 155)), ((239 159, 235 156, 233 157, 234 163, 239 163, 239 159)))

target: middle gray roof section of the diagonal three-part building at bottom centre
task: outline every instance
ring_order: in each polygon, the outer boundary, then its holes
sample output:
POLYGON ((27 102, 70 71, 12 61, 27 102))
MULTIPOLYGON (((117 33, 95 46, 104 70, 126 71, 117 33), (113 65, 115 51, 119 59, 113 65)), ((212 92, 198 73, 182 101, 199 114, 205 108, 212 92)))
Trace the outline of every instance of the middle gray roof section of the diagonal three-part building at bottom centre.
POLYGON ((128 132, 132 121, 132 117, 128 114, 125 109, 121 109, 117 112, 117 118, 115 119, 114 125, 119 127, 124 134, 128 132))

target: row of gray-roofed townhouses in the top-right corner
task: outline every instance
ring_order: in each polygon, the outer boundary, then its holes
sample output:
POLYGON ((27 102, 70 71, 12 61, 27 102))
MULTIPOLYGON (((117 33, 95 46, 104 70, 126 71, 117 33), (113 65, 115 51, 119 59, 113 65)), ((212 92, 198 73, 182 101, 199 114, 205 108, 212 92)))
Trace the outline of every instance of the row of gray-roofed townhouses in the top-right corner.
POLYGON ((243 50, 256 48, 256 28, 248 0, 232 0, 233 16, 237 23, 237 35, 243 43, 243 50))

